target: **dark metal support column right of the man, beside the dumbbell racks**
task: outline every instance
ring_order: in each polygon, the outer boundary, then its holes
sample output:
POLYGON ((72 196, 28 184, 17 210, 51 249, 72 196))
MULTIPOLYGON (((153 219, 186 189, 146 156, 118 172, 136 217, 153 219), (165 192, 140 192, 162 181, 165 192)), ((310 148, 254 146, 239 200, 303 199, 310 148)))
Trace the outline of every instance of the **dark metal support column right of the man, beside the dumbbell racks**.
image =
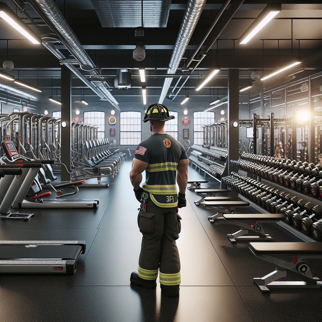
MULTIPOLYGON (((239 158, 239 69, 228 69, 228 161, 239 158), (233 123, 237 122, 234 128, 233 123)), ((237 169, 228 164, 228 175, 237 169)))

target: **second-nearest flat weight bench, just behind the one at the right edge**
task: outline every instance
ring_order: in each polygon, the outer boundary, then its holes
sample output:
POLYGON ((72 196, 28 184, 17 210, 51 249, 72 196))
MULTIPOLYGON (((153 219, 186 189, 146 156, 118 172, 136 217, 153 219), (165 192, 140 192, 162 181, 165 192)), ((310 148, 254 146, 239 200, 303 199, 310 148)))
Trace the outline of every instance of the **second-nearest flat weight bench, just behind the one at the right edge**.
POLYGON ((239 240, 270 240, 273 238, 269 234, 265 234, 262 223, 277 223, 280 220, 285 220, 283 213, 224 213, 223 218, 227 223, 233 223, 240 226, 241 229, 233 234, 228 234, 228 239, 234 243, 236 239, 239 240), (241 223, 240 221, 247 221, 248 223, 241 223), (243 229, 244 228, 244 229, 243 229), (251 236, 245 236, 249 232, 251 236))

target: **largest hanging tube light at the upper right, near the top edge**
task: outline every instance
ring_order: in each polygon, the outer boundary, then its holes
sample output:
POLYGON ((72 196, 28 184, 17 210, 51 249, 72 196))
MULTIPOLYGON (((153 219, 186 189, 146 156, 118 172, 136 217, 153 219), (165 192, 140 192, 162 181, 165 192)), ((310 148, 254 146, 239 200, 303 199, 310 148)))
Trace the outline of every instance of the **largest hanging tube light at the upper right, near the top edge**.
POLYGON ((265 9, 258 15, 254 22, 238 39, 239 44, 247 43, 256 35, 271 19, 273 19, 282 9, 281 3, 270 2, 265 9))

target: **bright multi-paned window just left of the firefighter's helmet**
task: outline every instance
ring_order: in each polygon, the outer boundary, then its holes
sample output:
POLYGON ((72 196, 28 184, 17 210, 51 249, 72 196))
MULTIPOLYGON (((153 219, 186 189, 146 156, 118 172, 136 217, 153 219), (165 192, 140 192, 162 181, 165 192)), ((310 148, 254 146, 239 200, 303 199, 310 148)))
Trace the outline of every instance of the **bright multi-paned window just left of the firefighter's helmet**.
POLYGON ((138 145, 141 142, 141 112, 120 113, 120 145, 138 145))

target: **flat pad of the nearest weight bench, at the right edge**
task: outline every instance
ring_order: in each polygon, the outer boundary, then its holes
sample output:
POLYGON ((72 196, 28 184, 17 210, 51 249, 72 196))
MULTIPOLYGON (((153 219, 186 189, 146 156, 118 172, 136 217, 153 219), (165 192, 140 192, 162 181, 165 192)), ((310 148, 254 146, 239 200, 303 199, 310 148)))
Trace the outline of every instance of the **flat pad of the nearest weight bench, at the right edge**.
POLYGON ((256 255, 322 255, 322 242, 250 242, 256 255))

